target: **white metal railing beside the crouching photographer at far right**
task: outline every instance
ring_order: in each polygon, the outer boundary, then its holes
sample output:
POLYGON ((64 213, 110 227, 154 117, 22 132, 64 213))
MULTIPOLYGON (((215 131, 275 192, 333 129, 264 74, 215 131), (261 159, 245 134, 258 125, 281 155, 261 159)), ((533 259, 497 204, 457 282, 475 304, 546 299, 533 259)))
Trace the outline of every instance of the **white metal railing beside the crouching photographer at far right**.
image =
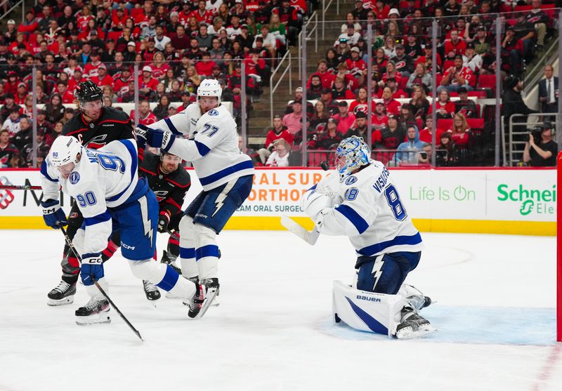
POLYGON ((504 166, 515 166, 523 160, 523 150, 527 143, 527 136, 533 127, 544 124, 544 117, 554 117, 556 121, 550 121, 552 126, 552 138, 556 140, 556 124, 562 114, 558 113, 532 113, 532 114, 513 114, 509 117, 507 131, 505 128, 504 117, 502 117, 502 140, 504 140, 504 166), (535 120, 532 120, 532 119, 535 120), (514 119, 523 119, 514 122, 514 119), (514 128, 515 126, 515 128, 514 128), (531 128, 529 128, 531 126, 531 128))

